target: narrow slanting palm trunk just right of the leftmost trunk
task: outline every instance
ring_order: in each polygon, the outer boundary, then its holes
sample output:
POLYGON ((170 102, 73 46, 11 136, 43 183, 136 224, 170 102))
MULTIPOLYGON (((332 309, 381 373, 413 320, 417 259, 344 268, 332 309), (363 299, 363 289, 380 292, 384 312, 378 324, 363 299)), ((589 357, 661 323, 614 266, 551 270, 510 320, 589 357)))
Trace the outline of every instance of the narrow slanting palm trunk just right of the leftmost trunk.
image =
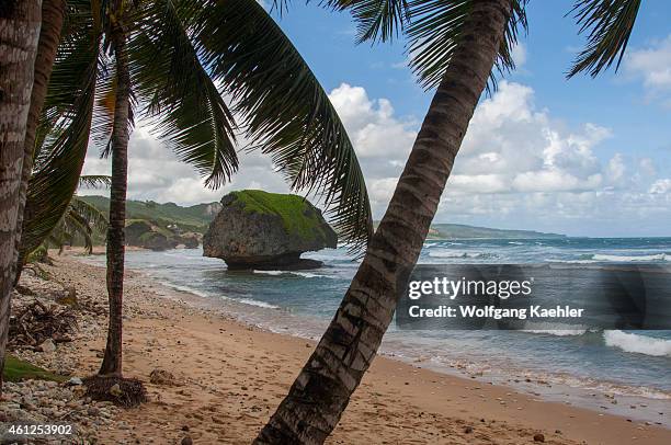
POLYGON ((31 107, 29 111, 27 123, 25 125, 25 141, 23 144, 23 167, 21 170, 21 186, 19 189, 19 214, 16 217, 16 252, 14 253, 14 285, 21 278, 24 259, 19 255, 21 244, 21 233, 23 232, 23 220, 25 201, 27 196, 29 180, 33 172, 33 153, 35 152, 35 134, 39 115, 44 106, 47 94, 49 77, 56 50, 60 42, 60 30, 65 16, 65 0, 44 0, 42 3, 42 30, 39 31, 39 43, 37 44, 37 57, 35 58, 35 77, 33 81, 33 92, 31 93, 31 107))

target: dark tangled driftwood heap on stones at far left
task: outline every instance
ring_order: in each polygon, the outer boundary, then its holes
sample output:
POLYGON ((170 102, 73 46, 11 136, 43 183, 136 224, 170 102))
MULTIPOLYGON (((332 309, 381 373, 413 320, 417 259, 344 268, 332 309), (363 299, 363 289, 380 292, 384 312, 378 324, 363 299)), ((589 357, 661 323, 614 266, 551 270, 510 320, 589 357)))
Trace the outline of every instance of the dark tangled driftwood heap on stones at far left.
POLYGON ((35 299, 13 309, 9 347, 35 349, 47 339, 52 339, 54 343, 69 342, 69 334, 76 329, 77 317, 71 308, 58 305, 46 307, 35 299))

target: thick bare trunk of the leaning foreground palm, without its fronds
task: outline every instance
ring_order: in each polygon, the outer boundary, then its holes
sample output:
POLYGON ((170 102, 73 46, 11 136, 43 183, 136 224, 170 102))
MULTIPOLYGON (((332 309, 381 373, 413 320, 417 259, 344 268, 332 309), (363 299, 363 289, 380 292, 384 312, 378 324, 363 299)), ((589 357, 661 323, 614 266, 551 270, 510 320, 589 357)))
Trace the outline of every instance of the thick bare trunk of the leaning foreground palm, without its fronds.
POLYGON ((375 357, 487 84, 511 0, 474 1, 406 168, 336 317, 255 444, 321 444, 375 357))

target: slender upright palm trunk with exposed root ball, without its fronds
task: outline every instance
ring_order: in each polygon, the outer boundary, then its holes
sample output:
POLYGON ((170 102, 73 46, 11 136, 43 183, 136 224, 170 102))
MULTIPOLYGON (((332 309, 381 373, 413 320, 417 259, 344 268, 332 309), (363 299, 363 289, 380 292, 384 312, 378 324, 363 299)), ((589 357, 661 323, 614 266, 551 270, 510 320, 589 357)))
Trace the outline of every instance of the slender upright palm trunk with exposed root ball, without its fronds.
POLYGON ((121 377, 130 76, 126 36, 120 26, 115 26, 115 30, 112 31, 112 45, 116 58, 116 100, 114 103, 114 126, 112 128, 112 185, 110 191, 110 225, 107 227, 110 323, 107 345, 99 374, 101 376, 121 377))

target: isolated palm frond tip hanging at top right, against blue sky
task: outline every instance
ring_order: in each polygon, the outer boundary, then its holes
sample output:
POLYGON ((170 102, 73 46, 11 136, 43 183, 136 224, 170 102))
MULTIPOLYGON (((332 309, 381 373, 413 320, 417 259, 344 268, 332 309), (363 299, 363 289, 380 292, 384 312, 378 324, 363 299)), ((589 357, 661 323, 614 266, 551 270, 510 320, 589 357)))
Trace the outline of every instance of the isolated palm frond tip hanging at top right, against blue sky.
POLYGON ((640 0, 578 0, 573 13, 580 33, 588 33, 588 42, 573 61, 567 77, 589 71, 596 77, 615 60, 615 71, 622 64, 632 30, 638 15, 640 0))

